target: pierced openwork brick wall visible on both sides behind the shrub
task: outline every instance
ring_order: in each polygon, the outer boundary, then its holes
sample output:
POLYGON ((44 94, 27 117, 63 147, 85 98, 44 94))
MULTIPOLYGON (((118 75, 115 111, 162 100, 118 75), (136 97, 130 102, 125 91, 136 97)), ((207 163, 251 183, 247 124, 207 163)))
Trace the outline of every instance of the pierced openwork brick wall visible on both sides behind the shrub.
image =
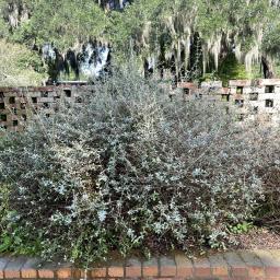
MULTIPOLYGON (((278 124, 280 120, 280 80, 259 79, 233 80, 229 88, 222 83, 203 82, 200 88, 194 83, 178 83, 183 98, 207 98, 209 102, 228 102, 237 107, 237 114, 246 119, 262 124, 278 124)), ((46 116, 55 114, 59 101, 86 102, 93 94, 90 85, 61 84, 40 88, 0 88, 0 126, 12 131, 21 131, 32 114, 44 109, 46 116)), ((173 97, 171 91, 171 98, 173 97)))

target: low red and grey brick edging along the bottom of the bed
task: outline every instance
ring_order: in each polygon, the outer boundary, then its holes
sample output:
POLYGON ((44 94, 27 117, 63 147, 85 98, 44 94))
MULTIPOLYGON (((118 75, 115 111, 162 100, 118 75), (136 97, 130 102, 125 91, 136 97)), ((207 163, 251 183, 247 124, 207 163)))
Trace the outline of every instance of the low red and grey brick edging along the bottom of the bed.
POLYGON ((130 258, 89 270, 35 258, 0 258, 0 279, 280 280, 280 250, 238 250, 190 261, 183 254, 141 261, 130 258))

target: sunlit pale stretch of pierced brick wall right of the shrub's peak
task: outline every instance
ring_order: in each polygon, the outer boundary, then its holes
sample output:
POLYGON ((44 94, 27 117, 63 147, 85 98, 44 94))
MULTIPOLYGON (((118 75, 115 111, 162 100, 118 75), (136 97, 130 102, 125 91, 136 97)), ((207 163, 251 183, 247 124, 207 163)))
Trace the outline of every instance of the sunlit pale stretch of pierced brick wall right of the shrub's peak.
MULTIPOLYGON (((178 83, 183 100, 226 102, 241 119, 278 125, 280 121, 280 79, 231 80, 229 88, 222 82, 178 83)), ((175 94, 174 94, 175 95, 175 94)))

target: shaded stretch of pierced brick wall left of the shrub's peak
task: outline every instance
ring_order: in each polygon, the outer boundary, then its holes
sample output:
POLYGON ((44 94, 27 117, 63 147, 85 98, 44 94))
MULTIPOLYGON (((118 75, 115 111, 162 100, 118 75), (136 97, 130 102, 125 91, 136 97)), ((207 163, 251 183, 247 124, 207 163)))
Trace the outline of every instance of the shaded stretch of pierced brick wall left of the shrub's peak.
POLYGON ((40 88, 0 88, 0 126, 21 131, 32 114, 44 110, 55 114, 59 102, 81 103, 92 94, 90 85, 59 85, 40 88))

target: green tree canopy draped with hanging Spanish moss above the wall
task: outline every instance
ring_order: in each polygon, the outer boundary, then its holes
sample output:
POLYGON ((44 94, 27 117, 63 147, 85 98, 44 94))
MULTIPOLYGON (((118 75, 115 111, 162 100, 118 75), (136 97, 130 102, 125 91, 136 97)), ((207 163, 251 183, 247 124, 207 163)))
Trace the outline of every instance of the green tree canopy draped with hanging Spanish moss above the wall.
POLYGON ((279 9, 271 0, 1 0, 0 36, 35 49, 51 43, 61 52, 97 39, 118 61, 133 51, 177 79, 189 79, 194 65, 198 75, 217 71, 232 55, 247 72, 262 65, 273 77, 279 9))

